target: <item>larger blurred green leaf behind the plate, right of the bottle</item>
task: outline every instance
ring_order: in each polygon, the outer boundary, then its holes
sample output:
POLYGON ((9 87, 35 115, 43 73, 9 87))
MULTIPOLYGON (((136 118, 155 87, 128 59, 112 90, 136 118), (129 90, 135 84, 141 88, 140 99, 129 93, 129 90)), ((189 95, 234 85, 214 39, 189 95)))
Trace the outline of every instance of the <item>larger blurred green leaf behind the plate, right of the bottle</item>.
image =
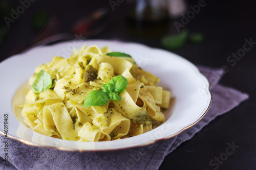
POLYGON ((187 40, 188 31, 182 30, 179 34, 166 35, 161 38, 161 44, 163 47, 173 50, 183 46, 187 40))

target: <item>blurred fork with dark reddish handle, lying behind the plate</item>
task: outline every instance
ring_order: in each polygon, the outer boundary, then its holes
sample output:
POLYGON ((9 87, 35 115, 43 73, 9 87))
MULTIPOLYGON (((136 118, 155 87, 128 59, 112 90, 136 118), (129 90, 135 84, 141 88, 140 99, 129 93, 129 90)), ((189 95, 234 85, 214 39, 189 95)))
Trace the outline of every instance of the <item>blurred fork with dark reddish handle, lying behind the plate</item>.
POLYGON ((52 17, 47 27, 42 30, 29 46, 23 45, 13 50, 7 57, 29 50, 35 46, 47 45, 58 40, 85 39, 93 37, 103 31, 112 21, 113 15, 109 9, 100 8, 73 24, 68 33, 58 33, 61 23, 58 18, 52 17), (56 34, 57 33, 57 34, 56 34))

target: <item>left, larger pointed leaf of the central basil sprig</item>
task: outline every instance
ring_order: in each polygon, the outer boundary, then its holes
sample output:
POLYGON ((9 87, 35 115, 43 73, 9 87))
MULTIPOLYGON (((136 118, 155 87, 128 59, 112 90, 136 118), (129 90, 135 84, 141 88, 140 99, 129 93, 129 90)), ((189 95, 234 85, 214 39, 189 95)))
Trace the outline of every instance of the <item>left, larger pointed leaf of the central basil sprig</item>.
POLYGON ((93 90, 84 99, 82 106, 103 106, 108 102, 109 96, 101 90, 93 90))

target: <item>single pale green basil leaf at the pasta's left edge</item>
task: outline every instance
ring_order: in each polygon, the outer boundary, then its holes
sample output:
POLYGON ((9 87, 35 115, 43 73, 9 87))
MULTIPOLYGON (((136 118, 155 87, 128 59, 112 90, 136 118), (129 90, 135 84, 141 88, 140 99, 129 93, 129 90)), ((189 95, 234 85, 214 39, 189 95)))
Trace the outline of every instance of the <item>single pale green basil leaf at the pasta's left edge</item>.
POLYGON ((31 86, 32 86, 34 92, 36 92, 36 93, 50 89, 52 86, 51 76, 46 71, 41 70, 38 73, 38 75, 36 76, 36 78, 31 86))

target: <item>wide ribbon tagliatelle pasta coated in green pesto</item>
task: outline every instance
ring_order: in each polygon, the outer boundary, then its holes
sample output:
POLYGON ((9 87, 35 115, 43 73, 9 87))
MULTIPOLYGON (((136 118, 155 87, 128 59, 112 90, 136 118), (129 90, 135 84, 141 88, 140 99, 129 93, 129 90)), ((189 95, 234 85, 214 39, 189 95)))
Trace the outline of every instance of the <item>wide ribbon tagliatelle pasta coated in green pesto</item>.
POLYGON ((54 56, 35 69, 32 85, 41 70, 51 79, 50 89, 25 96, 22 116, 32 130, 75 141, 107 141, 136 136, 164 122, 170 92, 156 86, 159 78, 141 69, 129 57, 108 56, 108 47, 97 45, 74 50, 69 58, 54 56), (127 79, 121 100, 109 99, 103 106, 83 107, 87 95, 122 75, 127 79))

